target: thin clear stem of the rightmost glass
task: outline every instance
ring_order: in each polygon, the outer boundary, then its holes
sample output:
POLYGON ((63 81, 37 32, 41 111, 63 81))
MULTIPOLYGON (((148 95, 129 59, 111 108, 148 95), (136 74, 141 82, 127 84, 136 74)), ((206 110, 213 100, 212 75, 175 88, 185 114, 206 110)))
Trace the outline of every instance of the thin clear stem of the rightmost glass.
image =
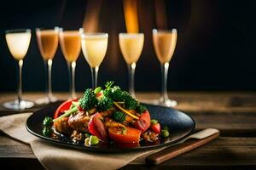
POLYGON ((167 76, 168 76, 168 69, 169 69, 169 63, 166 62, 165 64, 161 65, 161 98, 163 101, 166 101, 168 99, 167 94, 167 76))

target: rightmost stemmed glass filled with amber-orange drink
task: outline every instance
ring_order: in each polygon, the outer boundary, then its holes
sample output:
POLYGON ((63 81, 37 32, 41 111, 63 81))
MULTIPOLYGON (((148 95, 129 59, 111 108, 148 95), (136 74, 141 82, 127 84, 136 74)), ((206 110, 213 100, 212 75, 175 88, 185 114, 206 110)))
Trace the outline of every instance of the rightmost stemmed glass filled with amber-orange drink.
POLYGON ((169 69, 169 62, 176 48, 177 30, 159 31, 153 29, 154 51, 161 65, 161 96, 160 104, 169 107, 177 105, 175 100, 169 99, 167 94, 167 75, 169 69))

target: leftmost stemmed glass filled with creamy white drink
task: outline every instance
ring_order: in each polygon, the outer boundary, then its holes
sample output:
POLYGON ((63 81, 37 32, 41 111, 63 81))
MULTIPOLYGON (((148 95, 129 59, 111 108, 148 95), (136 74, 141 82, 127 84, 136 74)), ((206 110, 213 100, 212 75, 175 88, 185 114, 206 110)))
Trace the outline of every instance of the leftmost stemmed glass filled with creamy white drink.
POLYGON ((18 99, 15 101, 6 102, 3 104, 4 107, 13 110, 23 110, 26 108, 32 108, 34 105, 31 101, 22 99, 22 65, 23 59, 26 55, 27 49, 31 40, 30 29, 20 30, 8 30, 5 31, 6 42, 10 53, 18 61, 19 65, 19 81, 18 81, 18 99))

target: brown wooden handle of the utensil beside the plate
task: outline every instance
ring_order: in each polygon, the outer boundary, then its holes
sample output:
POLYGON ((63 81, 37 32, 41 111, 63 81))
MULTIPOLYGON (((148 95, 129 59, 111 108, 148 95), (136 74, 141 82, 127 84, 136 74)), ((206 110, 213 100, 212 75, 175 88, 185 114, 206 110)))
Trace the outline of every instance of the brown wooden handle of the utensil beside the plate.
POLYGON ((165 150, 160 150, 157 153, 147 156, 146 164, 148 164, 148 165, 160 164, 163 161, 167 161, 169 159, 172 159, 173 157, 182 155, 183 153, 185 153, 189 150, 198 148, 203 144, 207 144, 210 141, 212 141, 213 139, 217 139, 218 136, 219 136, 219 133, 214 133, 205 139, 193 139, 193 140, 184 142, 183 144, 178 144, 178 145, 166 148, 165 150))

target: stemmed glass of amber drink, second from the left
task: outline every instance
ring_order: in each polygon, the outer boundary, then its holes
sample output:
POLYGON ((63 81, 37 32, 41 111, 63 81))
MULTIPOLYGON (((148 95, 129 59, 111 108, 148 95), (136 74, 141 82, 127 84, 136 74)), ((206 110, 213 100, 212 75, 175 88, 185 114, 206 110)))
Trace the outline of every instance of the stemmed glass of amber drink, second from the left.
POLYGON ((40 104, 56 101, 56 98, 52 94, 52 88, 51 88, 51 67, 52 67, 52 59, 54 58, 55 52, 58 48, 58 41, 59 41, 58 33, 59 33, 58 27, 55 27, 54 29, 42 29, 42 28, 36 29, 38 48, 39 48, 40 54, 44 59, 46 72, 47 72, 47 66, 48 66, 48 82, 46 81, 47 98, 38 99, 38 103, 40 104))

